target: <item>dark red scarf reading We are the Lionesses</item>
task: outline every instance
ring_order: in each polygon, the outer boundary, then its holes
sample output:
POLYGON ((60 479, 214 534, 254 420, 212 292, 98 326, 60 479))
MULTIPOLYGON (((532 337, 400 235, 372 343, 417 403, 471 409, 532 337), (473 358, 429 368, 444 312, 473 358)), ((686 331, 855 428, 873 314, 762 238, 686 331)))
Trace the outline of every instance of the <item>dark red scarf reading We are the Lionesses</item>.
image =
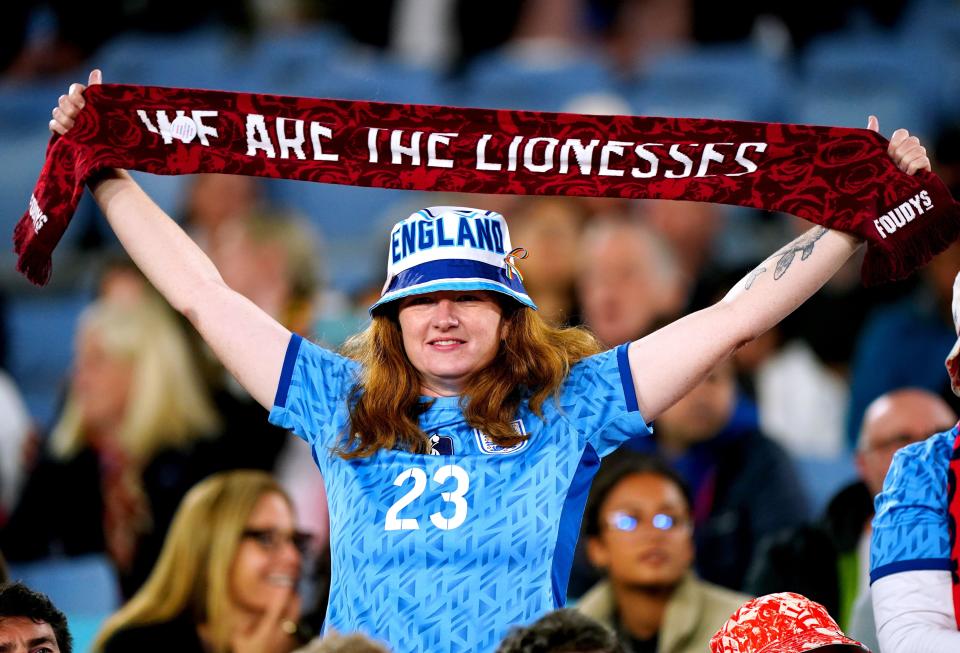
POLYGON ((105 168, 222 172, 409 190, 721 202, 783 211, 869 243, 867 284, 960 235, 935 175, 908 176, 863 129, 589 116, 98 85, 47 151, 14 233, 46 283, 84 183, 105 168))

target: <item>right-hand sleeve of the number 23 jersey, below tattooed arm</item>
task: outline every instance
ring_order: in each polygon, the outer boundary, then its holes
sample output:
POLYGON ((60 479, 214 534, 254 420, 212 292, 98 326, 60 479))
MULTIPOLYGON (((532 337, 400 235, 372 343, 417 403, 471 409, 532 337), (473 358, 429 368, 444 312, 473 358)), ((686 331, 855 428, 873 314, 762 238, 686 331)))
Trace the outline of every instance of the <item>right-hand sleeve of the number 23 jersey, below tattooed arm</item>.
POLYGON ((601 457, 631 438, 651 433, 637 405, 628 346, 583 359, 560 389, 564 414, 601 457))

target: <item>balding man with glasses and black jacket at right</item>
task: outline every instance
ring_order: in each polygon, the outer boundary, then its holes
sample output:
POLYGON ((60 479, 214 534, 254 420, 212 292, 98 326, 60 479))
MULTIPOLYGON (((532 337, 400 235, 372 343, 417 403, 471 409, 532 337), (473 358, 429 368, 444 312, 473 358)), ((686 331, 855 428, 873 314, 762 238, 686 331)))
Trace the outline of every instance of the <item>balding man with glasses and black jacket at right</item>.
POLYGON ((893 454, 957 421, 953 409, 926 390, 895 390, 867 408, 857 445, 859 478, 840 490, 819 521, 779 533, 761 547, 746 590, 757 595, 796 592, 822 604, 844 630, 869 588, 873 500, 893 454))

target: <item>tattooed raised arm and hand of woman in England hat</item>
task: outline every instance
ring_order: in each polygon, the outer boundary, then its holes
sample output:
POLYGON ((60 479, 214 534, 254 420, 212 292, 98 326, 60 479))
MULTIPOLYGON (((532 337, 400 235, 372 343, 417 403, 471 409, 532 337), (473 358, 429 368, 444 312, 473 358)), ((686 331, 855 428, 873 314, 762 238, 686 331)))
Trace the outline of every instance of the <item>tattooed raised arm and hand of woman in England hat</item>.
MULTIPOLYGON (((876 118, 869 128, 877 131, 876 118)), ((919 140, 894 132, 888 153, 901 170, 930 169, 919 140)), ((758 265, 726 297, 630 344, 630 367, 640 412, 655 419, 718 363, 815 293, 862 243, 816 227, 758 265)), ((638 298, 638 301, 640 298, 638 298)))

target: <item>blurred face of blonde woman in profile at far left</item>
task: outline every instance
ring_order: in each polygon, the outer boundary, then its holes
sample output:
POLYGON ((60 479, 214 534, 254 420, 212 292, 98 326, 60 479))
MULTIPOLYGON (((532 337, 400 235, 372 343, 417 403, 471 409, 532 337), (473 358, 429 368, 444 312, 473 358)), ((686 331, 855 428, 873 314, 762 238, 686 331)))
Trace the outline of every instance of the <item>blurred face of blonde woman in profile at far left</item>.
POLYGON ((107 352, 93 331, 80 332, 72 390, 85 428, 105 430, 123 420, 132 378, 132 361, 107 352))

